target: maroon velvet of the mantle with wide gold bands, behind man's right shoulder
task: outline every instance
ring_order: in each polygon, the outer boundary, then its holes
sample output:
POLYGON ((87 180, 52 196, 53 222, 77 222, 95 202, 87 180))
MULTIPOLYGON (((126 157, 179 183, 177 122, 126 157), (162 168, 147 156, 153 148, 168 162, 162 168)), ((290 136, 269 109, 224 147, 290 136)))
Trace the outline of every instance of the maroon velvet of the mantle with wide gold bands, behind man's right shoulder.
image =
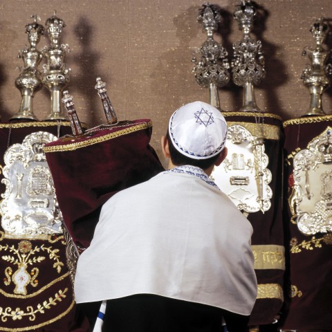
MULTIPOLYGON (((232 124, 241 124, 248 122, 256 124, 257 118, 243 115, 229 116, 227 112, 223 113, 227 122, 232 124)), ((284 228, 282 223, 282 145, 283 131, 282 121, 277 117, 265 116, 264 120, 260 118, 260 123, 270 124, 280 131, 279 140, 264 138, 265 153, 268 156, 268 169, 272 174, 272 181, 269 186, 273 192, 271 207, 266 212, 252 212, 248 215, 248 220, 252 224, 254 232, 252 234, 252 245, 277 245, 284 246, 284 228)), ((253 135, 255 133, 252 133, 253 135)), ((232 151, 228 151, 232 154, 232 151)), ((277 284, 281 288, 284 286, 284 270, 255 270, 258 284, 277 284)), ((250 315, 250 326, 266 325, 274 321, 282 308, 282 299, 261 298, 257 299, 250 315)), ((271 330, 273 331, 273 330, 271 330)))

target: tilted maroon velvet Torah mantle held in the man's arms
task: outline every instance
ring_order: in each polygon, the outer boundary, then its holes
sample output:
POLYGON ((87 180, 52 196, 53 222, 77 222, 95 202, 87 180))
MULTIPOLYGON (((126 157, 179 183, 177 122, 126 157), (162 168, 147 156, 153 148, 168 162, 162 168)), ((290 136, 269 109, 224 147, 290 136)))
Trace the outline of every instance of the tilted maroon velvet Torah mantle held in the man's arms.
POLYGON ((47 145, 59 208, 80 248, 89 246, 100 209, 113 194, 163 170, 150 138, 151 122, 135 120, 47 145))

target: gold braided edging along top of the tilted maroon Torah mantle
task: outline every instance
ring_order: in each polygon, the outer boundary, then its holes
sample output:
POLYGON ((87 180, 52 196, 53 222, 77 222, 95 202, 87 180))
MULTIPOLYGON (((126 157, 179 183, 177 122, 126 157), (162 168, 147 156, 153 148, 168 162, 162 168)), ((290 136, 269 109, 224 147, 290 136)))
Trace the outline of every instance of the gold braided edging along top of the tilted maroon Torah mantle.
POLYGON ((133 133, 135 131, 140 131, 142 129, 147 129, 149 127, 152 127, 151 121, 141 123, 141 124, 136 124, 133 127, 121 129, 114 133, 108 133, 107 135, 104 135, 104 136, 99 136, 99 137, 91 138, 88 140, 82 140, 80 142, 73 142, 73 143, 69 143, 66 145, 53 145, 50 147, 44 147, 44 152, 50 153, 50 152, 74 151, 74 150, 80 149, 82 147, 88 147, 89 145, 94 145, 94 144, 97 144, 100 142, 104 142, 106 140, 111 140, 113 138, 117 138, 117 137, 126 135, 128 133, 133 133))

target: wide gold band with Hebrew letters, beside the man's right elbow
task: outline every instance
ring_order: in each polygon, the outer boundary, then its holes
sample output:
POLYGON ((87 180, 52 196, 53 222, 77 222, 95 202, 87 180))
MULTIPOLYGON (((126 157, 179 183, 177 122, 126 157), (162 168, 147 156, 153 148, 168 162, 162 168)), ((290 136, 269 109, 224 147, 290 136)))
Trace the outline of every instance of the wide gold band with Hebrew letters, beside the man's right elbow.
POLYGON ((251 246, 255 270, 285 270, 285 248, 273 244, 251 246))

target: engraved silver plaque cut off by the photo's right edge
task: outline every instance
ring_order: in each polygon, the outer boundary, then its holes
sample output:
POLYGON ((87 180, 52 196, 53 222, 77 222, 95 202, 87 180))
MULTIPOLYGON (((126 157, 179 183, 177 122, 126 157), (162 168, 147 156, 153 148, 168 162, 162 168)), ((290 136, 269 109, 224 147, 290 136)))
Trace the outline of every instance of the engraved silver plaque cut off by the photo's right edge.
POLYGON ((306 235, 332 231, 332 128, 294 157, 297 227, 306 235))

